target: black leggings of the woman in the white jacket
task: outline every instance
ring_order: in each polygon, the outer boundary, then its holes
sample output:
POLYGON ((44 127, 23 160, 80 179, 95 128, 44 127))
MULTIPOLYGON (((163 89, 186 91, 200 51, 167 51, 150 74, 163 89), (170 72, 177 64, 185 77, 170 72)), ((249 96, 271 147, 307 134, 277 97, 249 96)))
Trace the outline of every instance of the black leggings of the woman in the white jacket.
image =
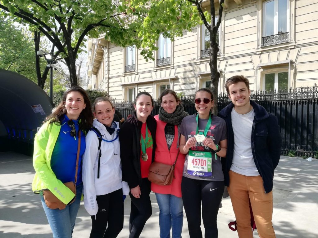
POLYGON ((92 231, 89 237, 117 237, 124 226, 124 202, 122 189, 118 189, 106 195, 96 196, 96 200, 98 212, 95 216, 91 216, 92 231))

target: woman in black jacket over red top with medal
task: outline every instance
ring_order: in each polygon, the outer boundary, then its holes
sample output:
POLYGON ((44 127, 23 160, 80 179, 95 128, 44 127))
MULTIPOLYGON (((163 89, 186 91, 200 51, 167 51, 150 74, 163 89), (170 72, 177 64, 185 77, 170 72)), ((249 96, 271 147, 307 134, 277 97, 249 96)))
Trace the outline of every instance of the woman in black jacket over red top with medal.
POLYGON ((156 120, 150 115, 153 109, 150 94, 138 93, 134 107, 135 113, 119 131, 122 180, 128 182, 131 198, 129 238, 139 237, 152 214, 148 172, 156 148, 156 120))

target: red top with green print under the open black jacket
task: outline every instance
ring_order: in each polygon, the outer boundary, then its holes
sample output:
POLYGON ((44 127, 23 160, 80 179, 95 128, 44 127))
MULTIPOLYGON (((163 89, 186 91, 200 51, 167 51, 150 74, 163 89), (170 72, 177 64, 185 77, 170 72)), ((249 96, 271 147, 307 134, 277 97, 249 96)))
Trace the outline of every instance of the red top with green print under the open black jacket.
MULTIPOLYGON (((140 132, 141 132, 142 138, 145 141, 146 140, 146 123, 142 124, 140 132)), ((148 155, 147 161, 142 160, 142 145, 141 145, 141 138, 140 138, 140 170, 141 170, 142 178, 148 178, 149 167, 150 167, 151 158, 152 158, 152 148, 153 148, 152 136, 151 136, 150 130, 148 129, 148 141, 146 141, 146 153, 148 155)))

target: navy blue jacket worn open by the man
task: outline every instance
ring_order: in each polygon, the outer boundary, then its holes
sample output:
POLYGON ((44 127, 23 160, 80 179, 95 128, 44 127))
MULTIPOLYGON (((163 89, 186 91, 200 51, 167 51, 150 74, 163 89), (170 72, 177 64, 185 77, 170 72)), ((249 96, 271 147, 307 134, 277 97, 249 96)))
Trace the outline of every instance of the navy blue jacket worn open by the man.
MULTIPOLYGON (((269 114, 265 108, 250 100, 254 109, 251 148, 256 168, 263 179, 264 189, 269 193, 273 189, 274 169, 278 165, 281 152, 281 135, 277 117, 269 114)), ((225 185, 229 186, 229 170, 233 160, 234 134, 231 112, 234 104, 231 102, 219 112, 227 125, 226 160, 223 162, 225 185)))

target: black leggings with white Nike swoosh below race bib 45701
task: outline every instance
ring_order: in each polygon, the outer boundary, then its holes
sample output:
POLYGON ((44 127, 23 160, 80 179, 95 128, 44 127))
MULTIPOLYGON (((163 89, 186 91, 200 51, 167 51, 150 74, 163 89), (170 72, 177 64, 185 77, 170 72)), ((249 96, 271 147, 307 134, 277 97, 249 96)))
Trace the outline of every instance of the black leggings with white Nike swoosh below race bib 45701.
POLYGON ((181 191, 190 238, 202 238, 201 201, 204 237, 217 238, 217 216, 224 191, 224 181, 205 181, 182 177, 181 191))

